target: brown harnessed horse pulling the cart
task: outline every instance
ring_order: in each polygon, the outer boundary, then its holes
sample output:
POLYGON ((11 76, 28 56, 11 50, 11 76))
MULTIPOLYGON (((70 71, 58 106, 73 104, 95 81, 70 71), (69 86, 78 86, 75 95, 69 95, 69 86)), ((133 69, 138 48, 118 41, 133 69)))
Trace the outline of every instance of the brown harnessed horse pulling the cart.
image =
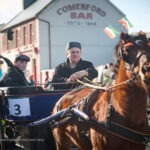
POLYGON ((145 143, 137 139, 150 134, 146 111, 150 48, 145 34, 122 33, 115 60, 113 85, 102 90, 98 85, 78 87, 55 105, 53 114, 72 106, 90 118, 84 121, 72 115, 60 121, 59 127, 53 128, 57 150, 69 150, 73 145, 80 150, 145 149, 145 143))

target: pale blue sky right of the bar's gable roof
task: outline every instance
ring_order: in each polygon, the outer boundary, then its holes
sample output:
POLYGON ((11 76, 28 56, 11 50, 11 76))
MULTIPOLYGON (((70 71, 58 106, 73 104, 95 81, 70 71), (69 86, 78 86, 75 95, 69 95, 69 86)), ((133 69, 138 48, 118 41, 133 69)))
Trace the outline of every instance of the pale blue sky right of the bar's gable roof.
POLYGON ((110 0, 132 22, 129 32, 150 32, 150 0, 110 0))

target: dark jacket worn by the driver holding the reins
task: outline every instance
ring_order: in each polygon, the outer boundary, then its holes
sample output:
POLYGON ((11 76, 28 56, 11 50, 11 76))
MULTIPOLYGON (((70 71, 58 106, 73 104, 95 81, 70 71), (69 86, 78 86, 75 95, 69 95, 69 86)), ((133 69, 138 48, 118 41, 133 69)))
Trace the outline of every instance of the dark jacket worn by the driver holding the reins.
MULTIPOLYGON (((52 83, 62 83, 62 82, 66 82, 66 79, 70 77, 71 74, 77 72, 77 71, 81 71, 81 70, 87 70, 88 72, 88 76, 87 78, 89 80, 92 80, 94 78, 96 78, 98 76, 98 71, 94 68, 93 64, 89 61, 85 61, 85 60, 80 60, 77 64, 77 66, 75 68, 70 68, 69 66, 69 60, 67 59, 66 62, 61 63, 60 65, 58 65, 55 68, 55 74, 54 77, 52 79, 52 83)), ((54 86, 55 88, 59 88, 59 89, 68 89, 71 88, 72 85, 64 85, 64 86, 54 86)))

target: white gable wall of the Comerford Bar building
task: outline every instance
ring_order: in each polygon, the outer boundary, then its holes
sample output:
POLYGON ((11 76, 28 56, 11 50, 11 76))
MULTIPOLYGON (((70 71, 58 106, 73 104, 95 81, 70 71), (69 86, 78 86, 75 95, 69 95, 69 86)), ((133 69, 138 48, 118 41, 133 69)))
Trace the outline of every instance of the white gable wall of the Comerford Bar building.
MULTIPOLYGON (((66 60, 65 47, 68 41, 81 42, 83 59, 92 61, 95 66, 106 64, 113 60, 113 50, 118 38, 109 39, 103 30, 111 24, 121 31, 122 25, 118 23, 118 20, 124 15, 107 0, 58 0, 48 6, 39 17, 50 23, 52 68, 66 60), (67 6, 72 4, 83 4, 82 6, 88 6, 89 9, 80 9, 79 6, 78 10, 67 10, 67 6), (92 11, 92 8, 101 9, 106 15, 101 16, 96 11, 92 11), (63 9, 64 12, 58 13, 58 10, 63 9), (71 17, 73 12, 78 14, 78 18, 71 17), (85 18, 79 17, 79 14, 84 15, 85 18), (90 14, 91 17, 86 18, 87 14, 90 14)), ((46 34, 46 40, 47 33, 45 30, 47 27, 42 28, 41 31, 45 32, 42 35, 46 34)), ((44 39, 41 39, 41 41, 41 43, 44 43, 44 39)), ((48 43, 45 41, 45 44, 41 45, 42 53, 46 51, 46 55, 48 55, 46 44, 48 43)), ((47 57, 46 59, 48 60, 47 57)), ((41 56, 41 60, 43 59, 45 59, 44 54, 41 56)), ((41 63, 43 63, 41 66, 48 67, 45 62, 42 61, 41 63)))

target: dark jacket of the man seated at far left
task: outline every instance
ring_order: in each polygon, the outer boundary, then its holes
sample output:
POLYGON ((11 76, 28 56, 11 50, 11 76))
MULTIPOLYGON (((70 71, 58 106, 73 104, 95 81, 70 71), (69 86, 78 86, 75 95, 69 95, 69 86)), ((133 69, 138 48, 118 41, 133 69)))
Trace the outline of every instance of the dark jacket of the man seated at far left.
POLYGON ((29 86, 24 73, 17 67, 10 67, 0 81, 1 87, 29 86))

